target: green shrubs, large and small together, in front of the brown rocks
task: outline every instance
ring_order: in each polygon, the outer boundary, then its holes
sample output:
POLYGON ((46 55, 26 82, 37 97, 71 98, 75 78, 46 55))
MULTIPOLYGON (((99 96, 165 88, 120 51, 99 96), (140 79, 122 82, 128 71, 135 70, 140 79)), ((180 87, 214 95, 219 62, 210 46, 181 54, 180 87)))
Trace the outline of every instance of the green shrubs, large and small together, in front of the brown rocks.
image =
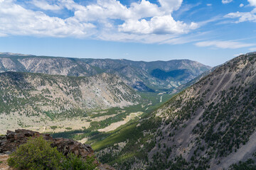
POLYGON ((68 158, 50 147, 50 142, 43 137, 30 138, 24 145, 19 146, 7 160, 9 166, 15 169, 28 170, 93 170, 95 157, 82 158, 69 154, 68 158))

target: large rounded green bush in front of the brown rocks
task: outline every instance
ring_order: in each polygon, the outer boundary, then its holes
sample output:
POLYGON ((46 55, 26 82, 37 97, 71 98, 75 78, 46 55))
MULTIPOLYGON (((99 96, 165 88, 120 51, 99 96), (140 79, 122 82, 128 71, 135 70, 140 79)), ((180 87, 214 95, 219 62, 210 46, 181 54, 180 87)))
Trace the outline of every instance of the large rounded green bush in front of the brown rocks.
POLYGON ((16 169, 62 169, 65 157, 43 137, 30 138, 9 157, 8 164, 16 169))

